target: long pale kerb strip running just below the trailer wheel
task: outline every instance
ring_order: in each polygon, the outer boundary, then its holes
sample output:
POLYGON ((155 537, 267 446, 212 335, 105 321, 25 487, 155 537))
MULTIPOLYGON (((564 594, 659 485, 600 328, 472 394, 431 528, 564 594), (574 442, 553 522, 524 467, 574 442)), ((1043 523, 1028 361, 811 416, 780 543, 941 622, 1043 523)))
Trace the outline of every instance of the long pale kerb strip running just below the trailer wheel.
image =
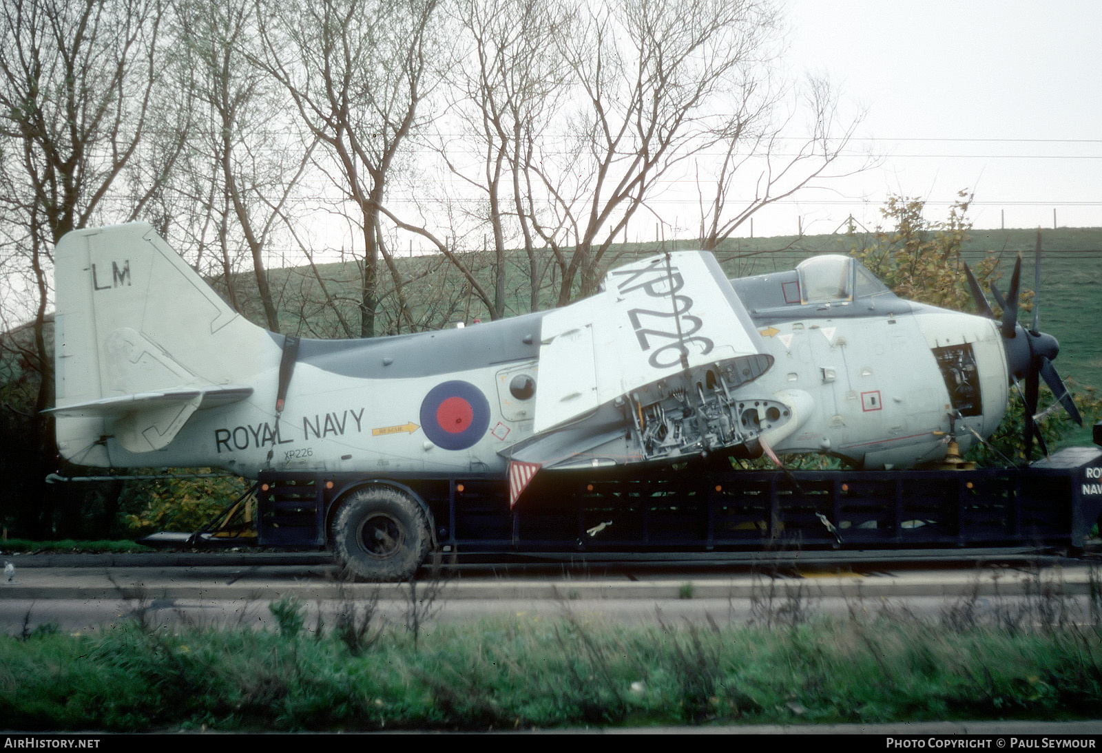
MULTIPOLYGON (((431 581, 422 580, 424 589, 431 581)), ((1098 588, 1094 582, 1093 587, 1098 588)), ((877 576, 775 577, 692 576, 630 580, 584 578, 456 578, 444 586, 445 599, 478 600, 604 600, 604 599, 775 599, 842 597, 853 599, 898 597, 1020 597, 1085 596, 1091 593, 1088 568, 1059 568, 1037 572, 1016 570, 916 571, 877 576)), ((111 599, 150 596, 173 599, 304 600, 408 598, 408 587, 341 583, 326 568, 301 567, 188 567, 188 568, 33 568, 18 571, 12 582, 0 582, 6 599, 111 599), (270 572, 269 570, 283 570, 270 572)))

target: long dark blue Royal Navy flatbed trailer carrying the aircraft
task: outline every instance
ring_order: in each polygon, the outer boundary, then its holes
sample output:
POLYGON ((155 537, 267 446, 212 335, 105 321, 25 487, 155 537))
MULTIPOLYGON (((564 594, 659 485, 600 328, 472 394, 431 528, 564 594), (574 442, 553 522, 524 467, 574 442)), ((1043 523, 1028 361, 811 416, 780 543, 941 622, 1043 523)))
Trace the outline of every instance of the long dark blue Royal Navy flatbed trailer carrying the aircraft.
POLYGON ((485 473, 262 472, 261 546, 329 546, 364 578, 412 575, 426 552, 574 561, 758 552, 1047 547, 1082 550, 1102 514, 1102 448, 1023 468, 537 474, 510 509, 485 473))

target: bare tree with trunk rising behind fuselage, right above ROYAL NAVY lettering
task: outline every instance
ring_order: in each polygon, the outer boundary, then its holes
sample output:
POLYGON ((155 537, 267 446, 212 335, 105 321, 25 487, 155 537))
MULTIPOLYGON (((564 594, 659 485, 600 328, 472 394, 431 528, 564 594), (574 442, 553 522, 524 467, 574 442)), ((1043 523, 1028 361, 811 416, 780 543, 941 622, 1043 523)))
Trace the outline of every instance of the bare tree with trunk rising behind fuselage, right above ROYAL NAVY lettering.
POLYGON ((382 217, 419 108, 431 88, 436 0, 299 0, 262 3, 266 69, 326 148, 321 164, 355 206, 364 244, 360 335, 376 331, 378 263, 390 273, 401 319, 411 320, 382 217))

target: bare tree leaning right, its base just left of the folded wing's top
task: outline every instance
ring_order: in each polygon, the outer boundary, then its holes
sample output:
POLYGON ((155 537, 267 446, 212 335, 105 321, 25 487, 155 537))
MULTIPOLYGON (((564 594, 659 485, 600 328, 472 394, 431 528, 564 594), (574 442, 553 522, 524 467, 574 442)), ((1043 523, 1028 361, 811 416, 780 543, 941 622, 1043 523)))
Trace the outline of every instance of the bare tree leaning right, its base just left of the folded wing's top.
POLYGON ((770 54, 777 30, 768 0, 575 9, 558 41, 579 105, 564 145, 530 144, 521 216, 555 253, 560 305, 596 290, 605 254, 659 183, 714 143, 733 83, 770 54))

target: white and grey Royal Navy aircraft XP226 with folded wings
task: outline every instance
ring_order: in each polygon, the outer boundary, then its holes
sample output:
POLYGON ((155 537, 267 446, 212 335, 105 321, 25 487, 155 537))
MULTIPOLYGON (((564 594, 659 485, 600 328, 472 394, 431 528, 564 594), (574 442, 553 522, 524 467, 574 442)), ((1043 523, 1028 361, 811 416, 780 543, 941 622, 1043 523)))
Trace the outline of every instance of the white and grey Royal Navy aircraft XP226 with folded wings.
MULTIPOLYGON (((1019 260, 1020 264, 1020 260, 1019 260)), ((1038 375, 1073 417, 1050 336, 904 301, 855 260, 728 281, 705 252, 611 271, 572 305, 361 340, 268 332, 148 225, 57 244, 57 446, 97 467, 508 477, 705 454, 825 452, 865 468, 990 435, 1038 375)), ((996 292, 996 297, 1000 297, 996 292)), ((1033 427, 1027 427, 1031 438, 1033 427)))

